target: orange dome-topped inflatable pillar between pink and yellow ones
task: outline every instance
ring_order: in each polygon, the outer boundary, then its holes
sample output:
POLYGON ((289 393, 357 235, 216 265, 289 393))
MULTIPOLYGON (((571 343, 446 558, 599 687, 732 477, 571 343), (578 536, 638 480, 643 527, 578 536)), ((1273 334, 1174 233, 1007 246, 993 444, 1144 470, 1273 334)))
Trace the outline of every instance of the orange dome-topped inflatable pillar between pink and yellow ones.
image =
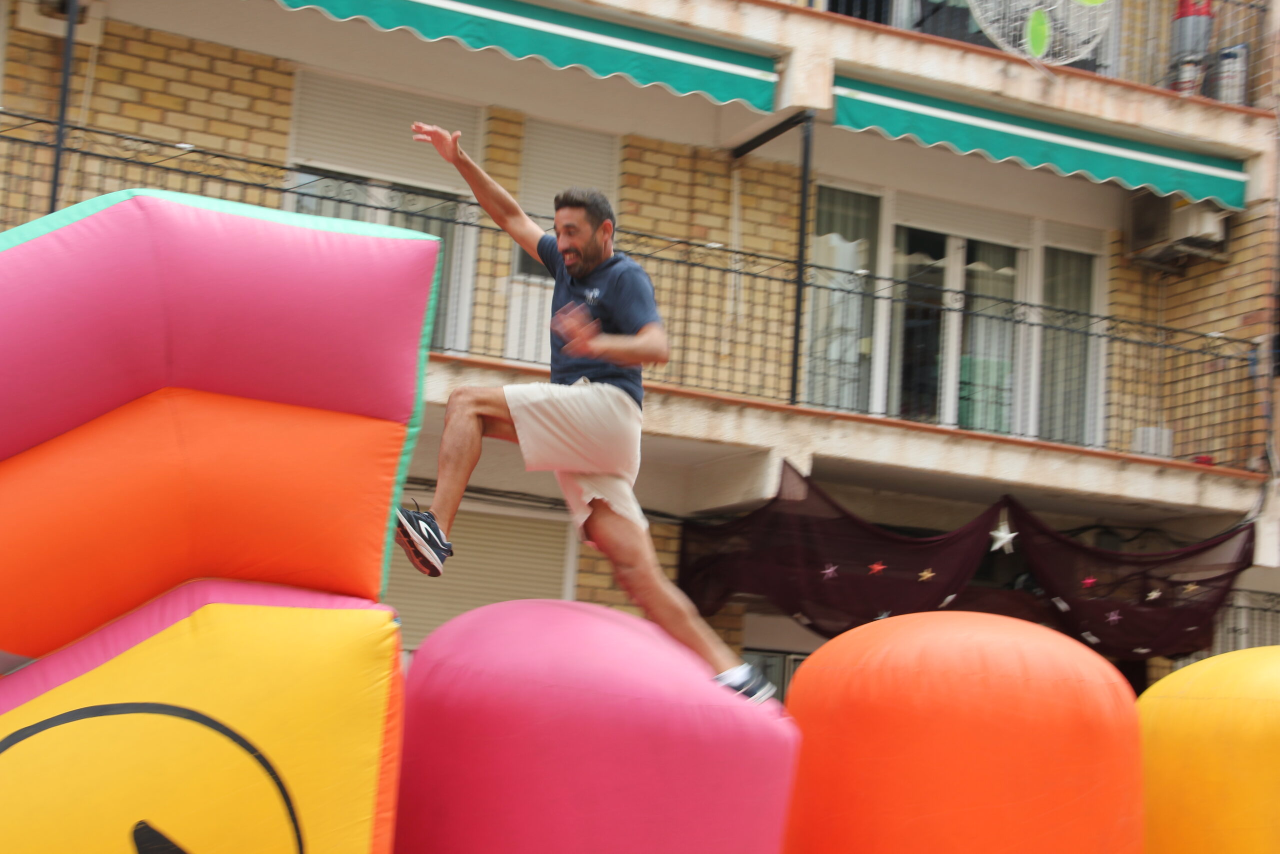
POLYGON ((1051 629, 878 620, 800 667, 786 854, 1140 854, 1133 690, 1051 629))

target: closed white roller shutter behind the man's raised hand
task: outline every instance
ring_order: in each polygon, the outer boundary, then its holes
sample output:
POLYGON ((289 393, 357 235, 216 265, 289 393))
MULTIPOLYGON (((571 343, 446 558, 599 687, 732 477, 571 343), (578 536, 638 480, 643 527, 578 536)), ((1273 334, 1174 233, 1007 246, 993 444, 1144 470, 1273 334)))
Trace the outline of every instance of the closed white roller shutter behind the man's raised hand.
POLYGON ((462 145, 480 151, 480 109, 342 77, 302 72, 293 104, 293 161, 364 178, 379 178, 470 196, 458 175, 410 124, 429 122, 462 131, 462 145))

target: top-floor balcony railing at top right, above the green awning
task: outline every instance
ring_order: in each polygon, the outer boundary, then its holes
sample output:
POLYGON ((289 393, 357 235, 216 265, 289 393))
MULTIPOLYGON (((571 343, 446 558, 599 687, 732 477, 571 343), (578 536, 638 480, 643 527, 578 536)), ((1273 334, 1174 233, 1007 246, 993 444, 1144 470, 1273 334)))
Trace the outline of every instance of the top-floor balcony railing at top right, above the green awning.
MULTIPOLYGON (((826 9, 913 32, 969 45, 998 47, 978 26, 972 4, 992 13, 1012 9, 1006 0, 799 0, 826 9)), ((1270 95, 1266 3, 1204 0, 1111 0, 1111 26, 1094 51, 1073 68, 1133 83, 1202 95, 1225 104, 1257 105, 1270 95), (1180 8, 1192 14, 1175 20, 1180 8)))

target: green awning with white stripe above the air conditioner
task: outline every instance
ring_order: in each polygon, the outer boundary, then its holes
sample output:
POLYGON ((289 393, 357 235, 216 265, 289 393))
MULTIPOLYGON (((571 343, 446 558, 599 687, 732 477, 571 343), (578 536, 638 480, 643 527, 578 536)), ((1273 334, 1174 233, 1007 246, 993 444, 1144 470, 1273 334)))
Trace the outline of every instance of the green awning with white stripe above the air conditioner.
POLYGON ((1239 160, 1134 142, 1064 124, 1038 122, 966 104, 928 97, 846 77, 836 78, 836 125, 876 129, 923 146, 946 146, 989 160, 1014 160, 1029 169, 1146 187, 1194 201, 1244 207, 1248 175, 1239 160))

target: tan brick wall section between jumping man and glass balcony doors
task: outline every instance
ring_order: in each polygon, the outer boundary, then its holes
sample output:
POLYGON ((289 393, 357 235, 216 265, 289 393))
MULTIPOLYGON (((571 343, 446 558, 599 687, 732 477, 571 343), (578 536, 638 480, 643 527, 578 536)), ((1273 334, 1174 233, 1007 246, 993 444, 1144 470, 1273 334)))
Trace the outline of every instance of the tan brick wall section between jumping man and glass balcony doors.
POLYGON ((628 136, 623 140, 618 225, 733 248, 733 181, 741 275, 728 251, 623 237, 643 252, 671 335, 672 360, 649 379, 778 397, 790 382, 799 173, 787 164, 718 149, 628 136), (653 251, 655 248, 660 251, 653 251), (703 266, 669 261, 689 260, 703 266), (774 259, 782 259, 781 261, 774 259))

